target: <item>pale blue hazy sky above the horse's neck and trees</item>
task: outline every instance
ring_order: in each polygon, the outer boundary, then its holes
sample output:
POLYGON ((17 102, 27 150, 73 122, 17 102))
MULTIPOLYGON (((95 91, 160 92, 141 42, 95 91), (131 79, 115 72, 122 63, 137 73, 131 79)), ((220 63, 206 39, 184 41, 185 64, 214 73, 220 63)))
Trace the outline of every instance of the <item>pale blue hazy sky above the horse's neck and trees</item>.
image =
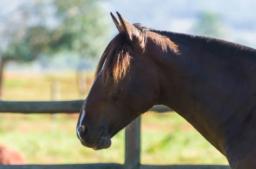
MULTIPOLYGON (((0 0, 0 16, 15 11, 21 3, 35 0, 0 0)), ((192 33, 200 11, 213 11, 221 15, 224 40, 256 48, 256 1, 255 0, 103 0, 108 12, 119 11, 131 23, 143 23, 148 27, 192 33)), ((11 16, 12 17, 12 16, 11 16)), ((109 15, 109 22, 112 23, 109 15)), ((117 32, 111 25, 111 35, 117 32)), ((111 37, 113 37, 111 36, 111 37)), ((56 61, 58 62, 58 61, 56 61)), ((75 63, 74 63, 75 65, 75 63)), ((36 66, 34 66, 36 67, 36 66)), ((31 68, 29 68, 31 69, 31 68)), ((33 68, 34 69, 34 68, 33 68)))

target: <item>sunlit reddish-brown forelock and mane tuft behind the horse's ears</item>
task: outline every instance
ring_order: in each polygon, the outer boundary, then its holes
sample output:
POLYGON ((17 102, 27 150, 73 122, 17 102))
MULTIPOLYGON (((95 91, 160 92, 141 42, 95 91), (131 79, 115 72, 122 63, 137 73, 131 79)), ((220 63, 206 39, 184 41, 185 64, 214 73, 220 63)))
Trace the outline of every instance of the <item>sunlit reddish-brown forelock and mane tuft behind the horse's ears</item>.
MULTIPOLYGON (((147 28, 145 25, 140 23, 134 23, 133 25, 142 32, 140 36, 143 36, 145 44, 143 52, 145 52, 148 32, 152 33, 152 37, 157 43, 157 46, 160 46, 163 51, 166 51, 167 46, 174 45, 169 38, 154 33, 154 29, 147 28)), ((119 32, 119 34, 117 34, 116 37, 111 40, 103 52, 96 68, 95 77, 99 75, 99 78, 101 78, 101 80, 105 83, 107 83, 109 78, 112 77, 114 83, 118 83, 119 80, 125 76, 127 69, 130 67, 130 51, 131 46, 126 38, 125 32, 119 32)))

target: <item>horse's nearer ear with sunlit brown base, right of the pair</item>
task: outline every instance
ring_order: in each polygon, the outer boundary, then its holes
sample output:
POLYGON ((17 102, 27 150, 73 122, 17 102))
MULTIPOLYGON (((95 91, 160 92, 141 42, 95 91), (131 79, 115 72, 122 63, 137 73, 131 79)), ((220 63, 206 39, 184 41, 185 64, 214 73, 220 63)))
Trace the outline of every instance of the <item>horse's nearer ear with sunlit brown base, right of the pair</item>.
POLYGON ((118 11, 116 11, 116 14, 119 17, 122 30, 125 32, 127 39, 135 48, 144 49, 145 43, 142 32, 133 24, 125 20, 118 11))

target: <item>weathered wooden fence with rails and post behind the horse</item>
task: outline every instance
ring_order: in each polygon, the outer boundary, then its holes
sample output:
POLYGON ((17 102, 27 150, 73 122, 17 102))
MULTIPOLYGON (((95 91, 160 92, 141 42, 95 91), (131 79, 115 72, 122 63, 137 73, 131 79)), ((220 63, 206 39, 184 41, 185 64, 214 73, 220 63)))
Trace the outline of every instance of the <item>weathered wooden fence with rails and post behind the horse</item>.
MULTIPOLYGON (((0 101, 0 112, 9 113, 77 113, 84 100, 49 102, 0 101)), ((151 111, 169 112, 166 106, 154 106, 151 111)), ((140 123, 139 117, 125 129, 125 163, 91 163, 60 165, 0 165, 0 169, 230 169, 222 165, 143 165, 140 163, 140 123)), ((208 158, 208 157, 207 157, 208 158)), ((209 157, 210 158, 210 157, 209 157)))

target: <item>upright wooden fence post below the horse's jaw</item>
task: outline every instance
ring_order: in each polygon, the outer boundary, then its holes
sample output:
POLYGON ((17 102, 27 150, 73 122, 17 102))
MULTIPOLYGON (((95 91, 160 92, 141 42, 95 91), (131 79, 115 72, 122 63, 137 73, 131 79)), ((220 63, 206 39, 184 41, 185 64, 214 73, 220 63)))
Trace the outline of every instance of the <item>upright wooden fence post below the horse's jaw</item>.
POLYGON ((140 167, 140 123, 141 117, 125 128, 125 169, 140 167))

